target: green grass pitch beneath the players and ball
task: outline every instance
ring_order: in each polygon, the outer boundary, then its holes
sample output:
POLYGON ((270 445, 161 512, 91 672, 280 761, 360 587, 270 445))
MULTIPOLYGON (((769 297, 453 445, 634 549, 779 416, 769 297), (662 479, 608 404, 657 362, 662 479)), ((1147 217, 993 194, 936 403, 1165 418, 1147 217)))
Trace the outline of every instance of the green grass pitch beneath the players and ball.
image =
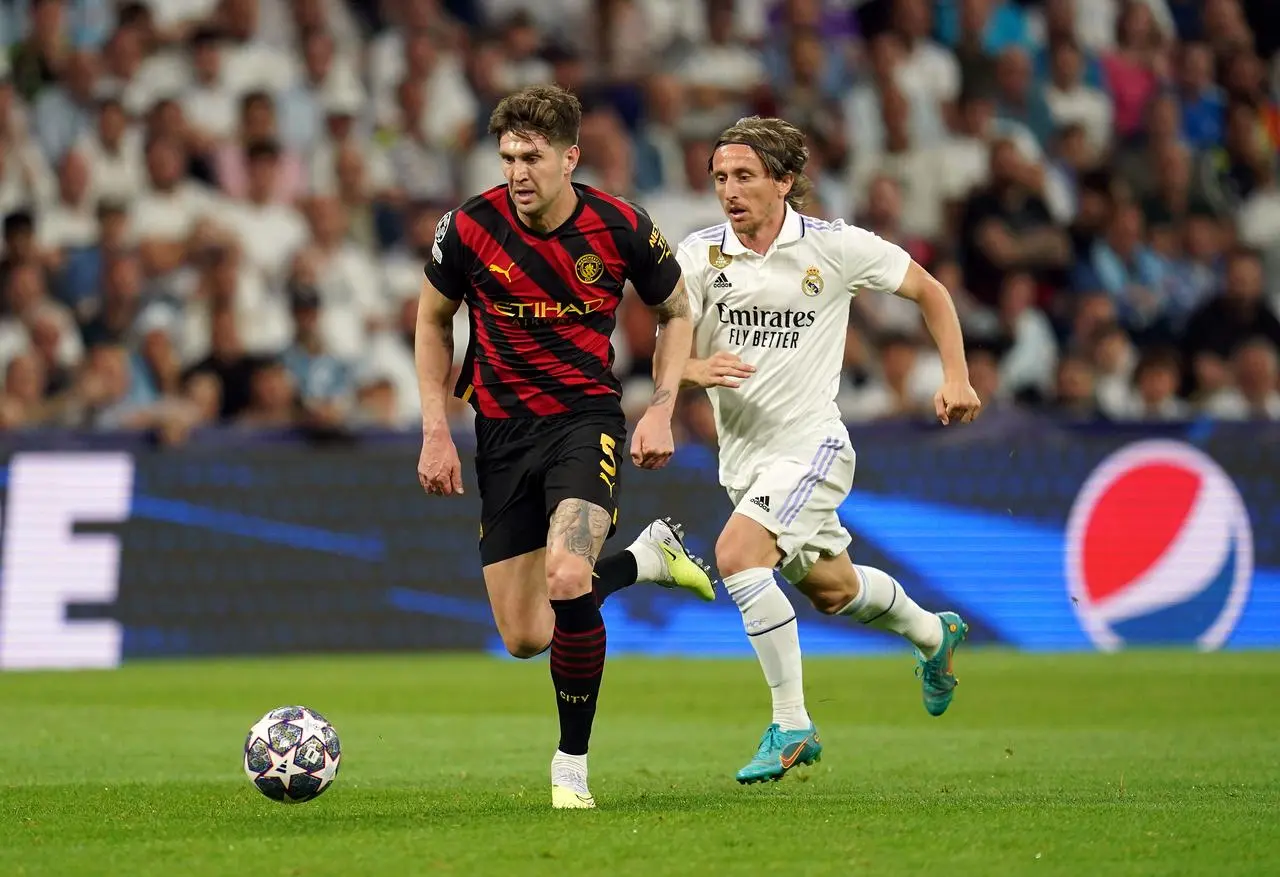
POLYGON ((0 874, 1277 874, 1280 656, 970 649, 951 711, 909 657, 812 659, 822 763, 740 787, 750 661, 617 659, 600 809, 553 812, 543 661, 302 657, 0 673, 0 874), (342 735, 338 782, 244 778, 268 709, 342 735))

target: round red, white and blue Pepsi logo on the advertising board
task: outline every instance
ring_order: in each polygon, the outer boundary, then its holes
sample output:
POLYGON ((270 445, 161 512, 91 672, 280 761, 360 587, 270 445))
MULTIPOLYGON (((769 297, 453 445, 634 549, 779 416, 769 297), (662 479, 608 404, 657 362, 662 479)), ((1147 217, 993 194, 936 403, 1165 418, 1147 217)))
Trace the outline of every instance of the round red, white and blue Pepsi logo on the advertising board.
POLYGON ((1103 460, 1071 506, 1066 584, 1093 644, 1216 649, 1253 579, 1253 531, 1230 476, 1171 440, 1103 460))

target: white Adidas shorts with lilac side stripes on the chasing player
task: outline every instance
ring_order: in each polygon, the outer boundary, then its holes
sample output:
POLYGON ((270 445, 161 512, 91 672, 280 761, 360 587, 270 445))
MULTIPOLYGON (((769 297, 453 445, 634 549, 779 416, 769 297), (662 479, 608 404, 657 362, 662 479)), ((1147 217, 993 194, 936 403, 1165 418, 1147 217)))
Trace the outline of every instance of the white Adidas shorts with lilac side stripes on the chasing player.
POLYGON ((728 490, 735 512, 777 536, 780 570, 791 584, 808 576, 818 558, 849 548, 838 510, 854 487, 855 460, 847 435, 826 437, 763 463, 749 488, 728 490))

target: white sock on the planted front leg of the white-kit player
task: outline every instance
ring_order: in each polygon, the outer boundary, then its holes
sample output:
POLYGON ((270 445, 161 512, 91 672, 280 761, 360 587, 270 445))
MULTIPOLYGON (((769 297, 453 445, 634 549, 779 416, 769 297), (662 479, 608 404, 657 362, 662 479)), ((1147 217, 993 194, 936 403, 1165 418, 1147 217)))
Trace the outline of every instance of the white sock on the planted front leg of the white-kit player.
POLYGON ((773 695, 773 721, 783 731, 809 727, 804 708, 800 631, 791 600, 778 588, 773 570, 756 567, 724 577, 724 590, 742 613, 746 638, 773 695))

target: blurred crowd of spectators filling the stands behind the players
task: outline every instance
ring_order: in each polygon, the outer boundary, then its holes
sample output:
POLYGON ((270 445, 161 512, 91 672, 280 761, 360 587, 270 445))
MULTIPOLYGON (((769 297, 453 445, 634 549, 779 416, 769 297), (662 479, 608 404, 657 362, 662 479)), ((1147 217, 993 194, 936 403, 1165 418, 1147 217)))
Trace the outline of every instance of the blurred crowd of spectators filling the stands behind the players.
MULTIPOLYGON (((1275 0, 3 0, 0 44, 0 429, 415 426, 435 223, 548 81, 576 178, 672 241, 722 220, 719 129, 800 125, 810 213, 946 283, 989 408, 1280 420, 1275 0)), ((614 344, 643 407, 630 298, 614 344)), ((940 375, 914 306, 855 300, 849 420, 940 375)))

